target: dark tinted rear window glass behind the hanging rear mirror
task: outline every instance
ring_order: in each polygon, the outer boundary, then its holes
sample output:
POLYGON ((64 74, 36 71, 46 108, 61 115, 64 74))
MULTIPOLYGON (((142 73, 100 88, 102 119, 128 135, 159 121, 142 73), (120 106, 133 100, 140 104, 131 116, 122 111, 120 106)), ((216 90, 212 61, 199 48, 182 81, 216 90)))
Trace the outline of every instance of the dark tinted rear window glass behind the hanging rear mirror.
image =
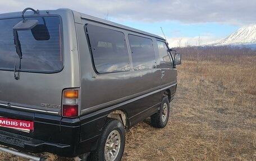
MULTIPOLYGON (((63 68, 59 17, 33 17, 35 29, 18 31, 22 59, 20 71, 57 72, 63 68), (44 27, 42 27, 44 26, 44 27)), ((13 43, 12 27, 22 19, 0 20, 0 70, 14 70, 19 56, 13 43)))

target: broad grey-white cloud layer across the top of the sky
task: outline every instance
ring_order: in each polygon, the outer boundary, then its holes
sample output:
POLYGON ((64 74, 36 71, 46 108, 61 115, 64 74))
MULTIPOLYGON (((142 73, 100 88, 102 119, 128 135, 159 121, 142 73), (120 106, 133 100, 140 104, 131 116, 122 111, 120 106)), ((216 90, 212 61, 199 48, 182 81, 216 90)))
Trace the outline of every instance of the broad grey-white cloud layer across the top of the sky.
POLYGON ((234 0, 0 0, 0 13, 22 11, 25 7, 39 10, 71 8, 89 15, 103 17, 107 11, 115 19, 136 21, 179 21, 181 23, 220 22, 223 24, 255 23, 256 1, 234 0))

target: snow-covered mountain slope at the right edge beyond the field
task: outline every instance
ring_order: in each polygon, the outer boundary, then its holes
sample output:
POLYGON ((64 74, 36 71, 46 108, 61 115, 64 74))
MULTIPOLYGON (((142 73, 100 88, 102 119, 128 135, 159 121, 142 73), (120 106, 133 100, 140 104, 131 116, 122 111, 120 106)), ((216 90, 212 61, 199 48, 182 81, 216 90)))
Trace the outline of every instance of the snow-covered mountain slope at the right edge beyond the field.
POLYGON ((227 36, 225 39, 211 43, 213 46, 220 45, 245 45, 256 46, 256 25, 241 27, 235 33, 227 36))

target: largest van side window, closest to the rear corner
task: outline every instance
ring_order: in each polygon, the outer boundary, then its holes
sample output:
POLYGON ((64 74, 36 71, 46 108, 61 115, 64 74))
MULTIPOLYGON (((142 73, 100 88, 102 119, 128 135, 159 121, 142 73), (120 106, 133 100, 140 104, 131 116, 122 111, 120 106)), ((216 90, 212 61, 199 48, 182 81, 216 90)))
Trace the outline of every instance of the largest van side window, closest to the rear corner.
POLYGON ((90 24, 86 25, 86 33, 98 73, 130 70, 124 33, 90 24))

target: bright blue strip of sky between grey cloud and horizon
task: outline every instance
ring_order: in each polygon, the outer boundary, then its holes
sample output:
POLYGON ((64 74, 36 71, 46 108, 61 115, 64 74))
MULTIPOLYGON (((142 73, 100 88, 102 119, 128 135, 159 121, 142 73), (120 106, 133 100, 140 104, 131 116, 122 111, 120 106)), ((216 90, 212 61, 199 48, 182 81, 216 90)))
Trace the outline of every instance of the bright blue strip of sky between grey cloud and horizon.
MULTIPOLYGON (((111 18, 110 18, 111 19, 111 18)), ((115 20, 113 20, 115 21, 115 20)), ((132 26, 136 29, 144 30, 149 33, 161 35, 161 27, 167 39, 182 39, 189 41, 190 45, 194 45, 198 36, 202 39, 206 39, 205 43, 213 42, 214 40, 225 38, 226 36, 234 33, 240 26, 217 24, 213 22, 207 22, 204 24, 181 24, 179 22, 138 22, 138 21, 116 21, 117 23, 132 26), (189 38, 191 38, 189 40, 189 38)), ((182 42, 185 45, 187 42, 182 42)), ((202 40, 203 41, 203 40, 202 40)), ((170 42, 173 46, 178 45, 178 42, 170 42)))

